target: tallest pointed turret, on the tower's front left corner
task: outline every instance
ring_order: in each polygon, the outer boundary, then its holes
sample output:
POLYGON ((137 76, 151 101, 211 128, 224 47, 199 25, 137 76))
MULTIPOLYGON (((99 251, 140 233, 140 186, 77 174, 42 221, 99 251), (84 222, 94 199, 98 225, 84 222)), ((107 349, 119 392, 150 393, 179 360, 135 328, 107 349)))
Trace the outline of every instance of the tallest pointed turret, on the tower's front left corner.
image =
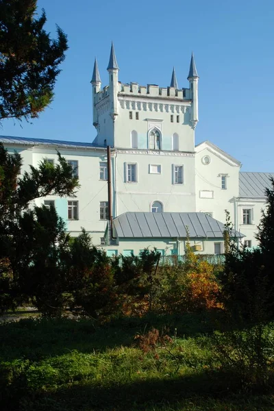
POLYGON ((110 61, 108 62, 108 73, 110 78, 110 115, 115 120, 118 116, 118 72, 119 66, 117 64, 114 45, 110 49, 110 61))

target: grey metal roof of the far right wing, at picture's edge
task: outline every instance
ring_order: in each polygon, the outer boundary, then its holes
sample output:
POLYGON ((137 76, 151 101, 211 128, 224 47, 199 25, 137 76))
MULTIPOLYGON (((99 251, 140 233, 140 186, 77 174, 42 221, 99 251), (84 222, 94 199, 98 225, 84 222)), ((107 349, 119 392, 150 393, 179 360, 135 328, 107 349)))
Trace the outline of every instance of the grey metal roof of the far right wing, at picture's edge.
POLYGON ((272 188, 270 177, 274 178, 274 173, 240 173, 239 197, 264 198, 266 188, 272 188))

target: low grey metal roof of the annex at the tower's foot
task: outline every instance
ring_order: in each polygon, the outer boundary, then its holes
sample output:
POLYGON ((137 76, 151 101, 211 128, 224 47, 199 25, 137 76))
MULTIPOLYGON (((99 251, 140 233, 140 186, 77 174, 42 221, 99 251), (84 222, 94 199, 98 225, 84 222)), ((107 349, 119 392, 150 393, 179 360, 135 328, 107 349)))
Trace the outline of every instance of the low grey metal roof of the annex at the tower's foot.
POLYGON ((223 238, 225 229, 203 212, 125 212, 113 224, 119 238, 186 238, 186 227, 190 238, 223 238))

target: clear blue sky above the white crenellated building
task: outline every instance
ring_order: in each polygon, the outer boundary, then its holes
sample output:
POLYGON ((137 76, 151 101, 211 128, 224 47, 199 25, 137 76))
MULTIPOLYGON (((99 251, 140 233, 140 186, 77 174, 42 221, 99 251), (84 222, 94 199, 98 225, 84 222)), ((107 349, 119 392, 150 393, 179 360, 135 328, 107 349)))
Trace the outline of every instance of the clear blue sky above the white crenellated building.
POLYGON ((187 87, 193 50, 199 73, 196 144, 210 140, 243 164, 274 172, 273 0, 38 0, 69 38, 55 100, 33 124, 4 121, 1 134, 91 142, 95 55, 103 86, 111 40, 122 82, 167 86, 175 66, 187 87))

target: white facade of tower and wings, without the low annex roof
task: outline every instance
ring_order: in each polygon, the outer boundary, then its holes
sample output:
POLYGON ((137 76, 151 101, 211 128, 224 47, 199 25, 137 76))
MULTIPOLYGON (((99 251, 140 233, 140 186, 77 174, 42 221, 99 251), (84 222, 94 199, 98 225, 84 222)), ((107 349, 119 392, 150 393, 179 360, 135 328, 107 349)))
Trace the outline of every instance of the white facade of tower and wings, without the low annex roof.
MULTIPOLYGON (((106 146, 110 145, 112 216, 128 211, 208 212, 224 222, 228 210, 234 228, 245 234, 245 239, 251 241, 249 245, 256 245, 254 232, 260 221, 264 195, 240 197, 240 162, 208 141, 195 147, 199 77, 193 56, 188 88, 177 88, 174 77, 171 87, 166 88, 119 82, 113 46, 108 73, 109 84, 101 89, 95 62, 91 84, 97 137, 93 143, 1 139, 11 153, 14 150, 21 153, 23 171, 29 164, 37 166, 43 158, 57 161, 57 149, 66 160, 77 164, 81 185, 77 197, 48 197, 36 200, 36 204, 55 201, 67 230, 77 236, 84 227, 94 245, 100 246, 108 223, 106 146)), ((203 252, 214 252, 212 244, 203 245, 203 252)), ((125 241, 124 245, 129 247, 125 241)), ((129 249, 136 251, 145 246, 142 242, 129 249)), ((170 253, 173 246, 161 247, 170 253)), ((177 249, 178 253, 182 252, 177 249)))

